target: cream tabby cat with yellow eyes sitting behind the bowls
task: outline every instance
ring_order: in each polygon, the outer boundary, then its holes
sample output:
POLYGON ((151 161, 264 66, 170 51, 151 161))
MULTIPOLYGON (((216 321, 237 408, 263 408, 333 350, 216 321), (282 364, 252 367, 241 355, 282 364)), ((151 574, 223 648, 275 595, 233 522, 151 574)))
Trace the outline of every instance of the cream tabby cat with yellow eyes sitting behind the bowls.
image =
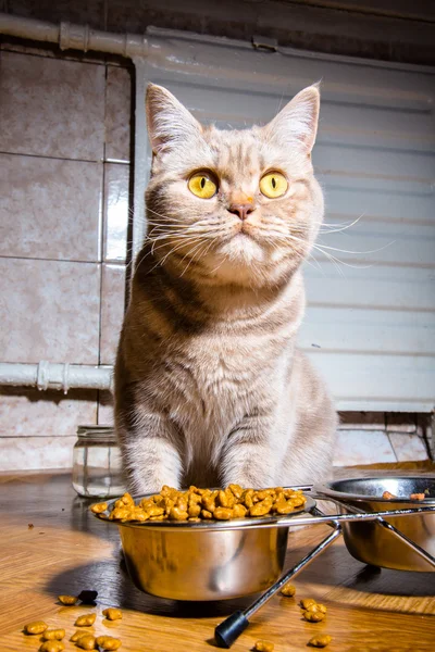
POLYGON ((115 364, 115 427, 134 493, 330 476, 336 413, 296 348, 301 263, 323 220, 320 92, 265 126, 203 126, 150 84, 148 233, 115 364))

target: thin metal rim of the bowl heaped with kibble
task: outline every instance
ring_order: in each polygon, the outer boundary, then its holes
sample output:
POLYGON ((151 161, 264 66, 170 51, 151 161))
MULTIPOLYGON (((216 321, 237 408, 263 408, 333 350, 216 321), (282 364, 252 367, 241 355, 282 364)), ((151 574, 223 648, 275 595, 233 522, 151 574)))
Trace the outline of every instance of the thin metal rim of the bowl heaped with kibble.
MULTIPOLYGON (((287 487, 286 487, 287 488, 287 487)), ((290 487, 291 488, 291 487, 290 487)), ((133 499, 139 500, 142 498, 146 498, 147 496, 154 496, 153 493, 146 493, 144 496, 134 496, 133 499)), ((240 526, 246 526, 246 528, 248 529, 254 529, 256 525, 263 525, 263 524, 269 524, 269 523, 276 523, 276 527, 279 527, 279 521, 284 521, 286 518, 291 518, 293 516, 300 516, 301 514, 304 513, 310 513, 314 507, 315 507, 315 500, 313 498, 311 498, 310 496, 306 496, 306 493, 303 493, 304 498, 306 498, 306 504, 303 505, 303 507, 299 509, 299 510, 295 510, 295 512, 290 512, 289 514, 283 514, 283 515, 271 515, 271 516, 251 516, 250 518, 232 518, 229 521, 213 521, 210 518, 210 521, 201 521, 200 523, 195 523, 195 522, 186 522, 186 521, 146 521, 145 523, 138 523, 135 521, 130 521, 130 522, 125 522, 123 523, 122 521, 109 521, 109 518, 107 517, 107 513, 110 512, 111 510, 111 505, 117 500, 117 498, 114 498, 113 500, 110 501, 104 501, 108 503, 108 509, 105 510, 105 512, 102 512, 101 514, 94 514, 94 516, 96 516, 97 518, 99 518, 100 521, 103 521, 103 523, 110 523, 113 525, 117 525, 119 527, 124 526, 124 527, 133 527, 133 528, 147 528, 147 529, 161 529, 164 528, 166 531, 169 529, 173 529, 176 531, 181 531, 181 530, 186 530, 186 531, 191 531, 191 530, 229 530, 229 529, 240 529, 240 526)), ((287 526, 283 526, 283 527, 287 527, 287 526)))

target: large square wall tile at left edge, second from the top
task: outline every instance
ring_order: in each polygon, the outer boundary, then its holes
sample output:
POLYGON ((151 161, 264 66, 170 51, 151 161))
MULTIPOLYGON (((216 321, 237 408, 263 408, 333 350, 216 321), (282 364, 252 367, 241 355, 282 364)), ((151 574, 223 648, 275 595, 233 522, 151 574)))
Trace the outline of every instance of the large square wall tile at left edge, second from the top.
POLYGON ((0 154, 0 255, 97 261, 102 165, 0 154))

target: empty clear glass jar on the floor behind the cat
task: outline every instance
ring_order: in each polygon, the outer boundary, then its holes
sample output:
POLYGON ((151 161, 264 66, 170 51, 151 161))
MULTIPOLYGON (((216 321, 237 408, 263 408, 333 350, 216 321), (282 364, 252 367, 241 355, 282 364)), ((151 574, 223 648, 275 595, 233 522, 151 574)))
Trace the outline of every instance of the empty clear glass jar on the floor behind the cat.
POLYGON ((73 487, 85 497, 124 493, 121 451, 112 427, 78 426, 73 451, 73 487))

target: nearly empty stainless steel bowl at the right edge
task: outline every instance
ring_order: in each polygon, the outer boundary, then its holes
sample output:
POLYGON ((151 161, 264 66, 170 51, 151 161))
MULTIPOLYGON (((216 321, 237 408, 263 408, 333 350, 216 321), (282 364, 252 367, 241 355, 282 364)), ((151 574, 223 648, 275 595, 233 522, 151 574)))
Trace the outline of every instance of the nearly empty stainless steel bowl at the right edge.
MULTIPOLYGON (((328 482, 316 487, 322 493, 339 504, 339 512, 346 514, 356 507, 363 512, 385 512, 412 507, 435 507, 435 477, 372 477, 352 478, 328 482), (393 500, 382 498, 384 491, 397 496, 393 500), (424 493, 424 500, 410 500, 411 493, 424 493)), ((394 525, 409 539, 435 555, 435 512, 413 516, 391 516, 385 521, 394 525)), ((343 534, 350 554, 360 562, 384 568, 399 570, 434 572, 406 543, 375 522, 344 523, 343 534)))

